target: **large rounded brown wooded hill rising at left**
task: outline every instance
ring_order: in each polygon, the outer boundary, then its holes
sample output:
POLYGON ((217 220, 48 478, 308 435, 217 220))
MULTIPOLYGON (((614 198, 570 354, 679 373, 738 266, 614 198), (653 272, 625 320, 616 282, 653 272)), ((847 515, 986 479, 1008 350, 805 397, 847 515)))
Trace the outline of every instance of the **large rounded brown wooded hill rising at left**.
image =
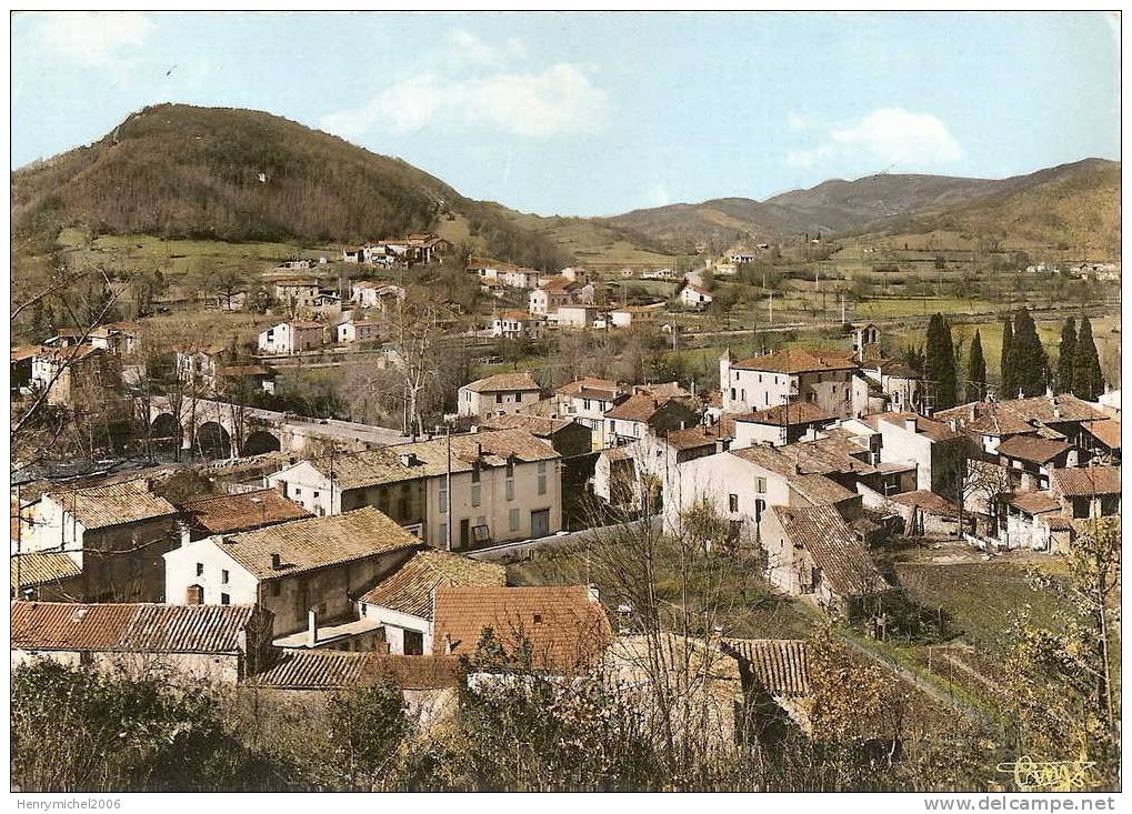
POLYGON ((509 209, 465 198, 411 164, 258 111, 161 104, 98 142, 17 170, 17 235, 100 233, 352 242, 466 220, 482 248, 568 262, 509 209))

